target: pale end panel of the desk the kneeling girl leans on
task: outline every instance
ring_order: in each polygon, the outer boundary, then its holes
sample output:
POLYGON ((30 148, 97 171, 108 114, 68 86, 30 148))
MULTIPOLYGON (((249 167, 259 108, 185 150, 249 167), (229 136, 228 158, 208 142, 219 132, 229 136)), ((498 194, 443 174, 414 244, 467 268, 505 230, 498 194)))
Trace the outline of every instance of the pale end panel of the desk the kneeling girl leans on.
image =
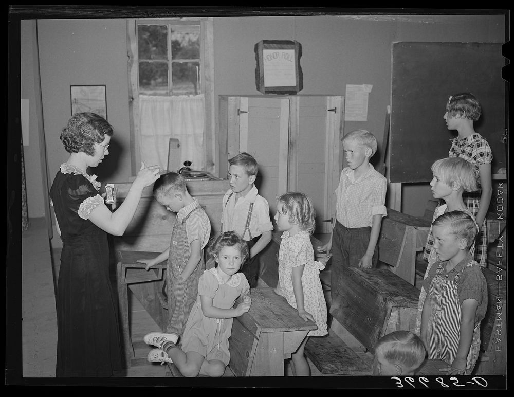
POLYGON ((284 376, 283 332, 261 332, 250 376, 284 376))

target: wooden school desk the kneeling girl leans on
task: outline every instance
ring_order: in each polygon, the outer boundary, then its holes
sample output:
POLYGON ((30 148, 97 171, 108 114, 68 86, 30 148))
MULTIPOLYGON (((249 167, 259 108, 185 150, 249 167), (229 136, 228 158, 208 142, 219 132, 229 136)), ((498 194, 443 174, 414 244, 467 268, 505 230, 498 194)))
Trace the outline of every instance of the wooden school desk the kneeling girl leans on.
POLYGON ((272 288, 252 288, 250 297, 250 311, 234 318, 229 367, 236 376, 284 376, 284 358, 317 326, 272 288))

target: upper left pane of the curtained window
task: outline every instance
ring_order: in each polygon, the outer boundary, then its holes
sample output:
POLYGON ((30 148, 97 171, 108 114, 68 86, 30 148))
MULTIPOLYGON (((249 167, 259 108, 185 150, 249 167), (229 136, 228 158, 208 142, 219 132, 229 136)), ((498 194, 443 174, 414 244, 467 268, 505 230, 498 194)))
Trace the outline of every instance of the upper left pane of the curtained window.
POLYGON ((168 27, 138 25, 137 48, 140 60, 168 59, 168 27))

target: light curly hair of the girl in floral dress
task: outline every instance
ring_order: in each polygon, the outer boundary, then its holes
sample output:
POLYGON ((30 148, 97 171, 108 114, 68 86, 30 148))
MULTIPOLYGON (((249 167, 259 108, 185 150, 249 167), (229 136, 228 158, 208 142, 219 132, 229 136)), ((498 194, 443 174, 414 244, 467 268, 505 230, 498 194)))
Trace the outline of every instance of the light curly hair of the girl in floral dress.
POLYGON ((298 224, 301 230, 309 233, 316 227, 316 211, 310 198, 302 192, 288 192, 277 198, 282 213, 288 216, 291 225, 298 224))

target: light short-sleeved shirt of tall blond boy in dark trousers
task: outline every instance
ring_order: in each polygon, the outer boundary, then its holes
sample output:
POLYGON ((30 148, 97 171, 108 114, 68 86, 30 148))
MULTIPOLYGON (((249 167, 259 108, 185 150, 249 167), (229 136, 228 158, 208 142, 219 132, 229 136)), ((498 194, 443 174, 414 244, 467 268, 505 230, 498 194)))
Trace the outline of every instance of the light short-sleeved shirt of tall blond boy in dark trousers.
POLYGON ((371 227, 373 215, 387 215, 386 190, 387 179, 371 164, 357 179, 354 170, 344 168, 336 189, 336 219, 348 228, 371 227))

